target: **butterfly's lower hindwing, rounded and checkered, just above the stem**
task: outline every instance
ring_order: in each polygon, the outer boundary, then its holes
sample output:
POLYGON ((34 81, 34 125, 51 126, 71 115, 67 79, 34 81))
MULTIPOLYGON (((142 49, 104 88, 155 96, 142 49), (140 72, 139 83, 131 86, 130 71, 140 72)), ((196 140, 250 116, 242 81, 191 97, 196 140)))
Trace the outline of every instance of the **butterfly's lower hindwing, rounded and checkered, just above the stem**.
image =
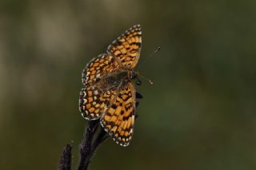
POLYGON ((85 87, 82 89, 79 99, 79 110, 82 117, 88 120, 96 120, 102 117, 102 113, 106 112, 116 95, 115 90, 102 91, 102 89, 96 87, 85 87))

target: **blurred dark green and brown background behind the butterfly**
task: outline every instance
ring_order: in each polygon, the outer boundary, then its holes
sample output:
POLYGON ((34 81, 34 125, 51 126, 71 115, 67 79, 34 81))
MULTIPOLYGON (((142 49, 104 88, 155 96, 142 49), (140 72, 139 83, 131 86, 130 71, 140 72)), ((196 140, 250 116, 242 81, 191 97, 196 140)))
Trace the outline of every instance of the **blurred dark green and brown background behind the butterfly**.
MULTIPOLYGON (((2 0, 0 169, 56 169, 85 121, 82 69, 142 25, 134 138, 107 140, 90 169, 256 168, 256 2, 2 0)), ((75 169, 75 168, 73 168, 75 169)))

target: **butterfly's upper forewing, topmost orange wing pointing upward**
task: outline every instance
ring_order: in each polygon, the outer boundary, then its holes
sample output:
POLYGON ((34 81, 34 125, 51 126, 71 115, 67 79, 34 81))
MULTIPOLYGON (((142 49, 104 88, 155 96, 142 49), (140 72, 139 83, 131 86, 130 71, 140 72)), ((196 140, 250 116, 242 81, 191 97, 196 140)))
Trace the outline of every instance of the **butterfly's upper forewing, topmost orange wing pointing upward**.
POLYGON ((142 45, 142 29, 140 25, 126 30, 108 47, 107 53, 118 58, 126 68, 133 69, 137 63, 142 45))

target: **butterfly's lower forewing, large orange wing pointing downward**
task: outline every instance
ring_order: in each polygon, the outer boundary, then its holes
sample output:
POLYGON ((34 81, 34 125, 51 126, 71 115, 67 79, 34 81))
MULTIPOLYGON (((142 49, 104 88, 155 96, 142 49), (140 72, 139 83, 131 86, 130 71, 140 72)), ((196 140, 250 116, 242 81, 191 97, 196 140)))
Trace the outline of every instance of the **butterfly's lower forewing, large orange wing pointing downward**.
POLYGON ((122 85, 113 104, 101 118, 102 127, 120 145, 130 143, 134 130, 135 89, 132 82, 122 85))

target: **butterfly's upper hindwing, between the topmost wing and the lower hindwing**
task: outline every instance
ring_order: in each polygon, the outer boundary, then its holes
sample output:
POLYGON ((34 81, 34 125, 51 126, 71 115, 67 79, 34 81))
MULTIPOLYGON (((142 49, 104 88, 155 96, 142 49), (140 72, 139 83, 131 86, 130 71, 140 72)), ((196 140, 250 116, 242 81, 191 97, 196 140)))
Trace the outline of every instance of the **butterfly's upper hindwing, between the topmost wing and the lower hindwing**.
POLYGON ((82 84, 92 85, 104 75, 120 69, 120 65, 113 56, 102 53, 86 65, 82 71, 82 84))

